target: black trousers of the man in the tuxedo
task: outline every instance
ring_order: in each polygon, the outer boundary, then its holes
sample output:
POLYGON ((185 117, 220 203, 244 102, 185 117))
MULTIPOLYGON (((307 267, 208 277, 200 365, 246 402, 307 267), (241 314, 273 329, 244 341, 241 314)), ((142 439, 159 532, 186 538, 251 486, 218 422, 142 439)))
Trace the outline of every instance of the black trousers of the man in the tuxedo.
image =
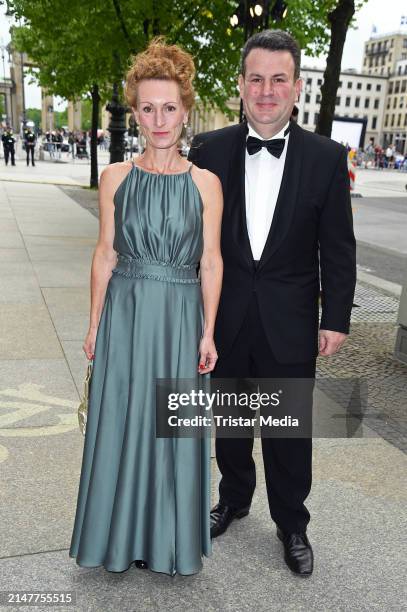
MULTIPOLYGON (((226 357, 220 355, 214 378, 315 378, 316 360, 278 363, 266 339, 256 294, 253 293, 242 328, 226 357)), ((312 398, 309 402, 312 410, 312 398)), ((216 439, 216 458, 222 478, 219 501, 249 506, 256 487, 253 438, 216 439)), ((271 518, 288 532, 305 531, 310 514, 304 500, 311 490, 312 439, 261 438, 271 518)))

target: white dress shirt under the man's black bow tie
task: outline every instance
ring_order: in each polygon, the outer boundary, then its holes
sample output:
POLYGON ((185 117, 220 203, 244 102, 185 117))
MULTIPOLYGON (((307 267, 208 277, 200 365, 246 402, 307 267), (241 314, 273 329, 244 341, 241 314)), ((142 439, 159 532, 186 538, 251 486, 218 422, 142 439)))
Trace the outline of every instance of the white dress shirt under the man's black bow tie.
MULTIPOLYGON (((262 147, 258 153, 249 155, 246 150, 245 164, 245 194, 246 194, 246 224, 249 234, 253 259, 259 260, 266 244, 276 207, 285 158, 287 154, 290 133, 284 136, 289 122, 273 136, 285 138, 285 146, 281 157, 275 157, 262 147)), ((265 140, 249 125, 249 136, 265 140)), ((271 140, 271 139, 270 139, 271 140)))

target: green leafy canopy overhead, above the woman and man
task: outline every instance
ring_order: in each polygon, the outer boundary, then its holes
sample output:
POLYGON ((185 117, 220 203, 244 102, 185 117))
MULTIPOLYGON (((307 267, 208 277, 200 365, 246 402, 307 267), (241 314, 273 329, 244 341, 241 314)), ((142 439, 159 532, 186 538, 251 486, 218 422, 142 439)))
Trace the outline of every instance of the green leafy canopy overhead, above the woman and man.
MULTIPOLYGON (((287 0, 287 29, 309 54, 327 50, 327 15, 335 0, 287 0)), ((241 28, 230 26, 235 0, 13 0, 22 26, 13 41, 40 66, 39 83, 66 99, 82 98, 97 83, 102 102, 122 81, 132 54, 155 35, 190 51, 196 90, 204 106, 225 110, 237 93, 241 28)), ((33 71, 34 72, 34 71, 33 71)))

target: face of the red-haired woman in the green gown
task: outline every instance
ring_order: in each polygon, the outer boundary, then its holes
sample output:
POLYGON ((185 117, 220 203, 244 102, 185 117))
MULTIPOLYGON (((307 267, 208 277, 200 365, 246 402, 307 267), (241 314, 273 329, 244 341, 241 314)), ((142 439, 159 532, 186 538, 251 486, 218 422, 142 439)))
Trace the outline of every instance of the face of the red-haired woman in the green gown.
POLYGON ((188 120, 178 83, 165 79, 140 81, 133 110, 147 143, 158 149, 176 145, 188 120))

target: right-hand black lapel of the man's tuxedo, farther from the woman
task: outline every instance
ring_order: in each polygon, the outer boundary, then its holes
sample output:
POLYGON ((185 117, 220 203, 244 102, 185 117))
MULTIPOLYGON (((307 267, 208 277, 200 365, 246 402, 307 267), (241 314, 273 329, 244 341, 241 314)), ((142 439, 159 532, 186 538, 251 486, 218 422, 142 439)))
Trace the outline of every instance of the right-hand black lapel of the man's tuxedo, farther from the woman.
POLYGON ((276 252, 290 228, 301 176, 303 139, 302 129, 296 123, 291 122, 280 191, 270 231, 261 254, 259 268, 263 267, 273 253, 276 252))

